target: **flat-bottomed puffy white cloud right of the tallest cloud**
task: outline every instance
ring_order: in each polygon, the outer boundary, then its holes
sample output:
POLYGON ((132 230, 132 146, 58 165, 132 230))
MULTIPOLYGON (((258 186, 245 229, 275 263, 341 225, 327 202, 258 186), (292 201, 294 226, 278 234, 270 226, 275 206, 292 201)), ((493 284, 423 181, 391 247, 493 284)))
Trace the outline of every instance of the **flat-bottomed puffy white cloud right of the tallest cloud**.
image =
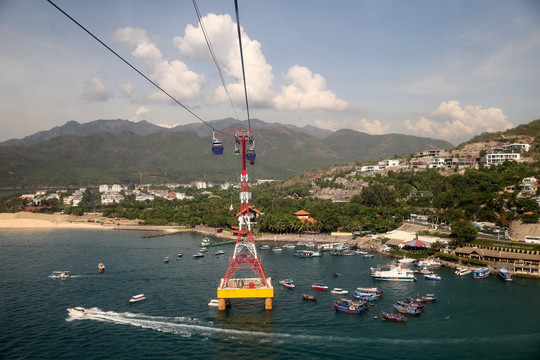
POLYGON ((344 111, 349 104, 340 100, 326 88, 326 80, 320 74, 313 74, 308 68, 295 65, 285 76, 289 85, 283 87, 276 96, 277 110, 330 110, 344 111))

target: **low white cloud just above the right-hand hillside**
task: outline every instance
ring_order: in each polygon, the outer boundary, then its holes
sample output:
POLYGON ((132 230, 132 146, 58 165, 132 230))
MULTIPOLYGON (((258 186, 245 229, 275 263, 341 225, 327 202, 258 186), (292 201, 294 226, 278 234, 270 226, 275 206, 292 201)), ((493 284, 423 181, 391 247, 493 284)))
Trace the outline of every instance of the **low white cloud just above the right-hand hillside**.
POLYGON ((513 127, 498 108, 465 105, 459 101, 443 102, 437 110, 422 116, 416 123, 405 120, 405 128, 418 136, 461 142, 482 132, 504 131, 513 127))

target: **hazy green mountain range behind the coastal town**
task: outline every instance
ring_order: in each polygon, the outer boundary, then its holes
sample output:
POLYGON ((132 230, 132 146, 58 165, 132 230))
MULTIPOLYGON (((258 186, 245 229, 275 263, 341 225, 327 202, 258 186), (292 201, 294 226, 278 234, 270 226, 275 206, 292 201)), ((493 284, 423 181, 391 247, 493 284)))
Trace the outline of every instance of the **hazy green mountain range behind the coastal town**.
MULTIPOLYGON (((247 123, 210 121, 225 152, 212 155, 212 129, 203 123, 165 128, 147 121, 70 121, 23 139, 0 143, 0 187, 87 186, 100 183, 237 181, 241 162, 233 156, 235 129, 247 123)), ((369 135, 342 129, 251 120, 257 161, 252 179, 285 179, 354 161, 381 160, 426 149, 450 149, 443 140, 410 135, 369 135)))

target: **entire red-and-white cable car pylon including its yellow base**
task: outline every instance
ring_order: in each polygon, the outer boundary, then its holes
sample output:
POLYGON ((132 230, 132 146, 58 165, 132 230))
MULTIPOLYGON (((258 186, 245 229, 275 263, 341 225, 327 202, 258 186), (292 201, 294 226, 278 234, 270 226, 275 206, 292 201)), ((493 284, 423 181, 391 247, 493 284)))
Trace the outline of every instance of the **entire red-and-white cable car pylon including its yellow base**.
POLYGON ((272 299, 274 288, 272 279, 266 276, 261 261, 257 255, 257 249, 251 234, 251 216, 249 212, 249 192, 248 174, 246 171, 246 160, 251 164, 255 162, 255 149, 251 130, 236 130, 235 138, 241 144, 242 151, 242 175, 240 176, 240 215, 238 217, 238 237, 234 253, 229 263, 229 268, 225 277, 221 279, 217 289, 219 299, 219 310, 225 310, 229 299, 232 298, 264 298, 266 310, 272 309, 272 299), (253 149, 252 156, 246 153, 246 143, 253 149), (237 271, 252 270, 256 277, 240 278, 235 277, 237 271))

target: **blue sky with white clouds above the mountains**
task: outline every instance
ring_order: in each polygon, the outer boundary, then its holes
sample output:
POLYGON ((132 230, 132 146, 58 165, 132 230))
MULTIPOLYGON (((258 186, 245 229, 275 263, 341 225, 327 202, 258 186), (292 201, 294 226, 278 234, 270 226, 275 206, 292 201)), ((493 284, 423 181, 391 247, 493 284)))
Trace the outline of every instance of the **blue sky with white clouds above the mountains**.
MULTIPOLYGON (((247 119, 234 0, 0 0, 0 141, 247 119), (223 77, 227 91, 224 90, 223 77), (196 116, 194 116, 195 114, 196 116)), ((459 144, 540 118, 538 0, 238 0, 250 118, 459 144)))

